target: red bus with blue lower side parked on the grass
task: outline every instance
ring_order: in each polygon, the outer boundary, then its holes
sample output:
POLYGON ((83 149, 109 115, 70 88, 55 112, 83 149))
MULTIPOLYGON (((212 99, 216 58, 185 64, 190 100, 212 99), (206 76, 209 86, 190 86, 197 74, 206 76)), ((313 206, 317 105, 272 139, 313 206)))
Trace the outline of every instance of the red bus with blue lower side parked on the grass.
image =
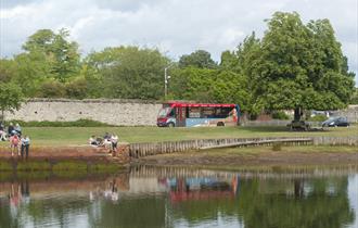
POLYGON ((158 127, 236 126, 238 104, 168 102, 161 109, 158 127))

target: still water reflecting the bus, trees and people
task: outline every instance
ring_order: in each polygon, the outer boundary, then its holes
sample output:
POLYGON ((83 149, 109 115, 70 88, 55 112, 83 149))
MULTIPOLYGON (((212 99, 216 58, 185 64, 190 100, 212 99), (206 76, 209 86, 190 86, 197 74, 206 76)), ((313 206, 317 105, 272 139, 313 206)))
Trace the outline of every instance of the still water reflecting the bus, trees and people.
POLYGON ((2 178, 0 227, 358 227, 357 169, 2 178))

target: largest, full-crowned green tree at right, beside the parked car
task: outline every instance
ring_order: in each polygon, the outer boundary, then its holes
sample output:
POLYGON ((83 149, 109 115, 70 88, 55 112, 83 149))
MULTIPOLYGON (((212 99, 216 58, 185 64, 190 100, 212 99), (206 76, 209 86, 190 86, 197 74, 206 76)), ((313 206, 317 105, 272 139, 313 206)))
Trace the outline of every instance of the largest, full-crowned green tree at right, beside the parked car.
POLYGON ((266 110, 344 107, 354 89, 341 45, 328 20, 304 25, 297 13, 277 12, 268 21, 250 69, 256 103, 266 110))

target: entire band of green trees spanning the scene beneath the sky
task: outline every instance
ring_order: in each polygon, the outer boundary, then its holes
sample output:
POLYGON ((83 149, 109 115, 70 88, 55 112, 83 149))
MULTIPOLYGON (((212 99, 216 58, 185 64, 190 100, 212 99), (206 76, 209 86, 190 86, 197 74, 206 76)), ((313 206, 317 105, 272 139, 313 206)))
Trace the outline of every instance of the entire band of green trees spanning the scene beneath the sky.
MULTIPOLYGON (((358 103, 355 74, 328 20, 304 24, 297 13, 277 12, 267 23, 261 39, 247 36, 235 50, 222 52, 219 65, 205 50, 171 63, 167 98, 239 103, 251 115, 358 103)), ((1 84, 17 85, 27 98, 164 98, 170 60, 158 50, 112 47, 81 61, 68 37, 66 29, 36 31, 23 53, 0 60, 1 84)))

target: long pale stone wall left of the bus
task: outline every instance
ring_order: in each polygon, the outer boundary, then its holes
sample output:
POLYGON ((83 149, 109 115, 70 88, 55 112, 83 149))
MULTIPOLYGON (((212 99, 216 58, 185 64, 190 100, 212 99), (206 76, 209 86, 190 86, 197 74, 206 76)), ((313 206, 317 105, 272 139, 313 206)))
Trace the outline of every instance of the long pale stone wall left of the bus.
POLYGON ((5 119, 72 122, 80 118, 118 126, 153 126, 162 107, 157 101, 117 99, 30 99, 5 119))

